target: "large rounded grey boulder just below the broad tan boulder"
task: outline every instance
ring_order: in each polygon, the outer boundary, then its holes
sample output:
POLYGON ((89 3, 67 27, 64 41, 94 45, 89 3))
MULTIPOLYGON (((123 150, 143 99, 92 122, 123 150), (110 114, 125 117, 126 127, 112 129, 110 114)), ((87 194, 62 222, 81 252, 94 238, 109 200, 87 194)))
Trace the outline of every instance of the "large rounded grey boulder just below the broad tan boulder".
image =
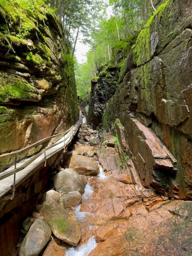
POLYGON ((54 187, 58 192, 78 191, 83 194, 85 191, 76 177, 64 170, 55 175, 54 187))

